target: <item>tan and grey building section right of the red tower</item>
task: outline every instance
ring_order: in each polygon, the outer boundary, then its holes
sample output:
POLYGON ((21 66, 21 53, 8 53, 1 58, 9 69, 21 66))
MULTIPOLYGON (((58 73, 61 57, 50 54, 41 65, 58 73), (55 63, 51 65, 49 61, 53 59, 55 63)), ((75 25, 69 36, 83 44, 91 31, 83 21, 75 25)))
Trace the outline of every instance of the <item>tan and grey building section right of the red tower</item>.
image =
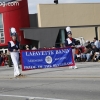
POLYGON ((72 27, 75 38, 100 39, 100 3, 39 4, 37 9, 38 27, 22 30, 25 38, 37 41, 40 47, 64 43, 67 26, 72 27))

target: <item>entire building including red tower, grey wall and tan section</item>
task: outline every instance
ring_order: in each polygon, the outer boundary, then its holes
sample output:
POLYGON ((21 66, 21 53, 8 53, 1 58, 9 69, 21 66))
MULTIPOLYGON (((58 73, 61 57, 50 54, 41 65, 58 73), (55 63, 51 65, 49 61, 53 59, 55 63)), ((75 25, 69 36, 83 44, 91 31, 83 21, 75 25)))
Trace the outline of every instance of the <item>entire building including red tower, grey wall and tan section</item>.
POLYGON ((72 28, 75 38, 100 39, 100 3, 39 4, 37 9, 37 14, 29 14, 27 0, 20 1, 19 6, 0 6, 1 47, 11 39, 11 27, 17 29, 21 45, 38 48, 64 43, 67 26, 72 28))

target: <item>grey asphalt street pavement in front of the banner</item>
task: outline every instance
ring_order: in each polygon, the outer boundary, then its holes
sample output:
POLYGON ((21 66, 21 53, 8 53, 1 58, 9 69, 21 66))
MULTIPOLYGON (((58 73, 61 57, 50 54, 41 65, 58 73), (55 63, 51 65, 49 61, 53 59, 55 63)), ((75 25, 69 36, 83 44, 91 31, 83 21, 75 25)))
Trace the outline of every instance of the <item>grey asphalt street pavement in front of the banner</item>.
POLYGON ((100 100, 100 62, 77 66, 25 71, 17 79, 13 68, 0 67, 0 100, 100 100))

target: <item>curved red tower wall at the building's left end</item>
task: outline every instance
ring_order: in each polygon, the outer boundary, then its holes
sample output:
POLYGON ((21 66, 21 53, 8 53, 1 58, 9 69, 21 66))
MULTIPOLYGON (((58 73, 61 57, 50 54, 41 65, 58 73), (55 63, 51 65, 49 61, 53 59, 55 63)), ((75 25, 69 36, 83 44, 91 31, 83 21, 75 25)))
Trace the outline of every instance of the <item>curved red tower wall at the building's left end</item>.
POLYGON ((11 27, 16 28, 18 40, 20 43, 28 44, 30 41, 24 39, 23 32, 20 30, 21 28, 30 27, 27 0, 22 0, 19 2, 19 5, 15 6, 0 6, 0 13, 3 15, 3 26, 5 34, 5 43, 0 43, 0 46, 7 46, 8 41, 11 40, 11 27))

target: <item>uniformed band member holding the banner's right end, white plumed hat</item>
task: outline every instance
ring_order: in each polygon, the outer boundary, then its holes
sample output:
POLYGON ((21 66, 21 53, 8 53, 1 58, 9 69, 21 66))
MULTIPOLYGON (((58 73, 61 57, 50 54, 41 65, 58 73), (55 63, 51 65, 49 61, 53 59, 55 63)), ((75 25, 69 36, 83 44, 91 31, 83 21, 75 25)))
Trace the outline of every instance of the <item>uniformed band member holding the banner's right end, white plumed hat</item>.
MULTIPOLYGON (((73 59, 74 59, 76 40, 75 40, 74 38, 72 38, 72 32, 71 32, 70 27, 67 27, 67 28, 66 28, 66 31, 67 31, 67 36, 68 36, 68 38, 66 39, 65 45, 66 45, 66 47, 67 47, 67 46, 72 47, 72 54, 73 54, 73 59)), ((75 62, 75 61, 74 61, 74 62, 75 62)), ((76 66, 76 64, 75 64, 74 66, 70 66, 69 68, 70 68, 70 69, 72 69, 72 68, 77 69, 77 66, 76 66)))

